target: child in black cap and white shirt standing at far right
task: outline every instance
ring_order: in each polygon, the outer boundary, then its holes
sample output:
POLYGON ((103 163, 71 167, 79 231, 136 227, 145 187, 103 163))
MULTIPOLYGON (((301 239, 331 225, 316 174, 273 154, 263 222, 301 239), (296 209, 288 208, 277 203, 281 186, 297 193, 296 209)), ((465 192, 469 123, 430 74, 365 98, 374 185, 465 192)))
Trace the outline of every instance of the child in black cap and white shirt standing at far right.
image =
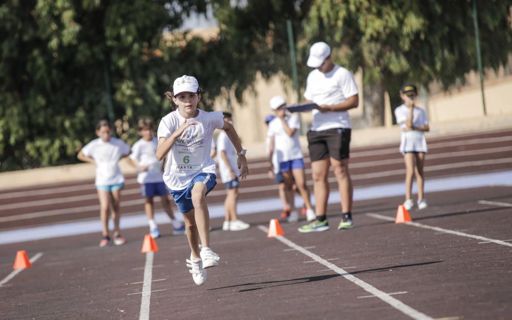
POLYGON ((414 84, 404 84, 400 88, 400 98, 403 104, 395 109, 396 123, 400 125, 402 133, 400 137, 400 153, 406 164, 406 201, 403 206, 407 210, 414 207, 412 200, 413 176, 416 174, 418 185, 418 209, 424 209, 428 205, 423 198, 423 186, 425 183, 423 166, 427 152, 425 132, 429 132, 429 120, 423 109, 414 105, 418 90, 414 84))

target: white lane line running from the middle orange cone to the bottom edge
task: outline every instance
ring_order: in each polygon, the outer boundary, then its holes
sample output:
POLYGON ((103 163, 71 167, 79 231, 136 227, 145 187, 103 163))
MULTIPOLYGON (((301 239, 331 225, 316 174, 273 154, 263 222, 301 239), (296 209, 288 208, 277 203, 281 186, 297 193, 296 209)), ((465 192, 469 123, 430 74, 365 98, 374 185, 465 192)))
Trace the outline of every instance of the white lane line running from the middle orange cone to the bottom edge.
MULTIPOLYGON (((262 230, 263 232, 267 233, 268 232, 268 229, 264 226, 258 226, 258 228, 260 230, 262 230)), ((293 248, 297 251, 300 251, 301 253, 307 255, 309 258, 313 259, 313 260, 316 260, 318 261, 319 263, 323 264, 324 266, 328 267, 329 269, 335 271, 336 273, 340 274, 343 276, 343 278, 347 279, 348 281, 358 285, 359 287, 361 287, 362 289, 364 289, 365 291, 373 294, 373 295, 376 295, 380 300, 382 300, 383 302, 386 302, 387 304, 391 305, 393 308, 401 311, 402 313, 410 316, 411 318, 413 319, 416 319, 416 320, 433 320, 432 317, 422 313, 422 312, 419 312, 418 310, 416 309, 413 309, 411 307, 409 307, 408 305, 404 304, 403 302, 397 300, 396 298, 392 297, 391 295, 387 294, 386 292, 383 292, 383 291, 380 291, 379 289, 375 288, 374 286, 360 280, 359 278, 356 278, 355 276, 353 276, 352 274, 348 273, 347 271, 345 271, 344 269, 320 258, 318 255, 314 254, 313 252, 311 251, 308 251, 306 250, 304 247, 301 247, 297 244, 295 244, 294 242, 286 239, 285 237, 283 236, 278 236, 278 237, 275 237, 276 240, 279 240, 281 241, 282 243, 284 243, 285 245, 289 246, 290 248, 293 248)))

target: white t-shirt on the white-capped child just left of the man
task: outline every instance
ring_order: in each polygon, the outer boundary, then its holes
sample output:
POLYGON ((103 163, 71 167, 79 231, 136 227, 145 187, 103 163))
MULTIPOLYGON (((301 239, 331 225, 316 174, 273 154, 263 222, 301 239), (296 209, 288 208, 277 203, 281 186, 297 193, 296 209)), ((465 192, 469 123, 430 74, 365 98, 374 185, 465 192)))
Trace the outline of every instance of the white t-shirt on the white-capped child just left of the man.
POLYGON ((291 114, 285 117, 286 123, 290 129, 296 129, 293 136, 289 136, 283 126, 283 122, 279 117, 275 117, 268 123, 267 137, 274 137, 274 155, 278 163, 302 159, 301 144, 298 141, 298 130, 301 123, 297 114, 291 114))

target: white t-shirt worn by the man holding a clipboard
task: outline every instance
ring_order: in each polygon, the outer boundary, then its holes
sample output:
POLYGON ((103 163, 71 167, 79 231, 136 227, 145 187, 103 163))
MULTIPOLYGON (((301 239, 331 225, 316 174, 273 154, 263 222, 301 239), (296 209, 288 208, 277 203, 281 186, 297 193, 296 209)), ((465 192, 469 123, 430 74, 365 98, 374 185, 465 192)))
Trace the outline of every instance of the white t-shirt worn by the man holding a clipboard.
MULTIPOLYGON (((354 76, 347 69, 334 65, 334 68, 324 74, 318 69, 311 71, 306 80, 304 98, 318 105, 337 104, 358 94, 354 76)), ((335 128, 352 127, 347 111, 329 111, 321 113, 313 109, 312 131, 324 131, 335 128)))

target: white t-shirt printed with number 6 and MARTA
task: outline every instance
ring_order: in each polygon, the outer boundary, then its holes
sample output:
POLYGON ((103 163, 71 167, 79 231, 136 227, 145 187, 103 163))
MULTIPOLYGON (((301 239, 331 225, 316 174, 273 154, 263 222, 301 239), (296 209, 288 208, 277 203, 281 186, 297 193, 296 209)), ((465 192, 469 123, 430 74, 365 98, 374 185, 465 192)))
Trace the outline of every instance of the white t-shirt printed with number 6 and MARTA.
MULTIPOLYGON (((163 180, 171 190, 182 190, 199 173, 215 174, 215 161, 210 158, 211 140, 215 129, 222 129, 224 116, 220 111, 199 110, 197 121, 185 129, 170 148, 165 162, 163 180)), ((158 125, 158 139, 167 139, 185 122, 178 110, 167 114, 158 125)))

